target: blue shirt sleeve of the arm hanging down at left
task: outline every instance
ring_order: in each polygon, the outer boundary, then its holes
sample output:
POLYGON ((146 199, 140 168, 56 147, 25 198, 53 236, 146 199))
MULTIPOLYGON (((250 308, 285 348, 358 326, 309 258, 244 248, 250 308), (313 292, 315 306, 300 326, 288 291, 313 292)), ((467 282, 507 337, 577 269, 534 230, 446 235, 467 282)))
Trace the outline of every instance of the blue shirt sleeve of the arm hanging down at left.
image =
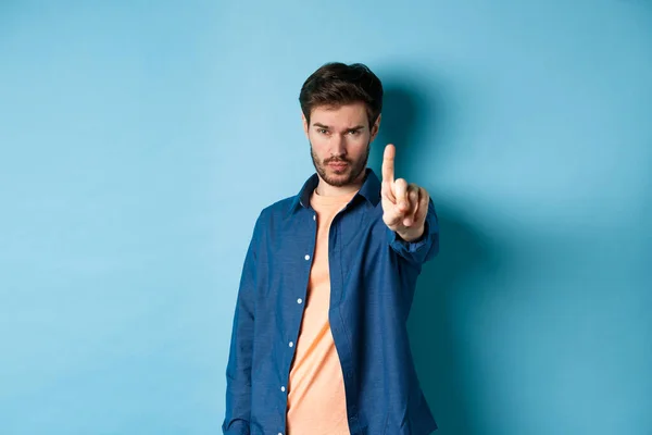
POLYGON ((254 295, 256 259, 262 213, 259 215, 240 277, 233 321, 230 350, 226 368, 226 413, 222 431, 249 435, 251 417, 251 359, 253 353, 254 295))

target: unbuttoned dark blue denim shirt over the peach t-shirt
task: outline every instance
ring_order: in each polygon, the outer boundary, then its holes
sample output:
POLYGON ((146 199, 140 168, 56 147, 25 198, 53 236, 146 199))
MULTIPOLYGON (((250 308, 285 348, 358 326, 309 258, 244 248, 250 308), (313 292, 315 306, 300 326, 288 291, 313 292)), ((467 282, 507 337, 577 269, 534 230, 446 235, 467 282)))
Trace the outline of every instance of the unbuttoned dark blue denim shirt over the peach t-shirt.
MULTIPOLYGON (((402 240, 383 222, 380 181, 365 171, 362 187, 328 234, 328 320, 349 428, 351 434, 430 434, 437 424, 416 376, 406 320, 422 264, 439 249, 437 215, 430 200, 424 235, 402 240)), ((265 208, 256 220, 234 316, 225 434, 286 433, 286 386, 315 249, 310 197, 317 184, 313 174, 297 196, 265 208)))

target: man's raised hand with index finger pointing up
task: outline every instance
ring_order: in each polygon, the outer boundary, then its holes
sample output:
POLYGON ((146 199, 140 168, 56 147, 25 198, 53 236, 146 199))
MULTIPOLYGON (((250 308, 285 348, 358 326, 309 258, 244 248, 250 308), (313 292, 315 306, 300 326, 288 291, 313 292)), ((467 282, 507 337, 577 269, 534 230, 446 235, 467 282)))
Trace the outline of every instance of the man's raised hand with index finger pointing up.
POLYGON ((383 221, 402 239, 412 241, 422 236, 425 228, 430 196, 423 187, 408 184, 403 178, 394 181, 396 147, 388 145, 383 154, 383 221))

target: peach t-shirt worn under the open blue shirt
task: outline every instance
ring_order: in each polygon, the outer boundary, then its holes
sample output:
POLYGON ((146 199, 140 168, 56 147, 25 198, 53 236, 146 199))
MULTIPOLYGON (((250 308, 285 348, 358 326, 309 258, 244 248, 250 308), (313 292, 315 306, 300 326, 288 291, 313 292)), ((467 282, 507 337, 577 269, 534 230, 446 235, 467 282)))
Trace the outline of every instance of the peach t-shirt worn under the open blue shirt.
POLYGON ((328 231, 333 217, 355 196, 311 196, 317 236, 306 301, 288 386, 288 435, 349 435, 344 381, 328 322, 328 231))

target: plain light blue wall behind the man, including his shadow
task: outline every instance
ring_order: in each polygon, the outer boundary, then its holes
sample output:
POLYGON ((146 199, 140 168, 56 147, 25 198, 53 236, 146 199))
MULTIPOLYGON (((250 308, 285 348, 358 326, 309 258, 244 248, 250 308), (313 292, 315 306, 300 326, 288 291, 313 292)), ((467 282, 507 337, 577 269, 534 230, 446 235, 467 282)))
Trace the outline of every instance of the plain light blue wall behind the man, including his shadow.
POLYGON ((440 434, 652 433, 652 3, 0 2, 0 433, 215 434, 299 89, 384 80, 440 434))

